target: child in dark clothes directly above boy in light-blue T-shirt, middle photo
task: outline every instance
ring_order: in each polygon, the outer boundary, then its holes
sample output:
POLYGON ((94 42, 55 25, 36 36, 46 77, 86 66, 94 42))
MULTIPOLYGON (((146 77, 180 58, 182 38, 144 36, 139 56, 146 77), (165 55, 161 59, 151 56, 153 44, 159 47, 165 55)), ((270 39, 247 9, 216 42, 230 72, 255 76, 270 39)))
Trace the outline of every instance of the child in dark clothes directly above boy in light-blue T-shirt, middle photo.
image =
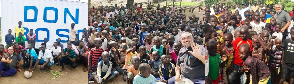
POLYGON ((146 53, 146 47, 140 46, 139 52, 140 54, 138 56, 140 57, 140 63, 148 63, 150 56, 146 53))

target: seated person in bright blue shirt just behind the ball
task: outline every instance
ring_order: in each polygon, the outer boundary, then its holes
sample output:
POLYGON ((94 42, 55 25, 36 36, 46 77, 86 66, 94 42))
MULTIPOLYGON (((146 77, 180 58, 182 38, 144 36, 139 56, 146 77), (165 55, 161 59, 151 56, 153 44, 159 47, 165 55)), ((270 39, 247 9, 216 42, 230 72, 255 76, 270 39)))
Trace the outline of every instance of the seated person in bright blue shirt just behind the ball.
POLYGON ((28 51, 26 53, 26 57, 24 57, 24 60, 28 59, 30 61, 22 64, 22 67, 24 67, 24 68, 29 67, 29 70, 31 69, 32 66, 34 66, 36 64, 36 60, 38 59, 38 55, 37 55, 35 49, 32 47, 33 46, 31 43, 28 44, 28 51))

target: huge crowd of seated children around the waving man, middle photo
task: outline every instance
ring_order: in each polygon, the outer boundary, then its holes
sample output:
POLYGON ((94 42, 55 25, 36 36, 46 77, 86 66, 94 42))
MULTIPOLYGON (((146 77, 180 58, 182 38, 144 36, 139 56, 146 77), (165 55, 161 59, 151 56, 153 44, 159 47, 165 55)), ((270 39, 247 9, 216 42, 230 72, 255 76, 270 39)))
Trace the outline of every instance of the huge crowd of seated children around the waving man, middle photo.
MULTIPOLYGON (((151 11, 151 2, 147 9, 142 5, 135 3, 133 7, 118 7, 115 4, 98 6, 98 10, 93 6, 88 17, 90 27, 85 34, 89 39, 86 51, 89 83, 106 83, 122 74, 127 84, 170 84, 172 82, 168 80, 176 75, 178 54, 183 48, 181 35, 190 33, 193 35, 190 38, 192 43, 197 41, 202 46, 204 25, 198 22, 199 17, 187 19, 174 6, 160 8, 158 4, 156 10, 151 11)), ((204 83, 204 73, 200 77, 204 83)))

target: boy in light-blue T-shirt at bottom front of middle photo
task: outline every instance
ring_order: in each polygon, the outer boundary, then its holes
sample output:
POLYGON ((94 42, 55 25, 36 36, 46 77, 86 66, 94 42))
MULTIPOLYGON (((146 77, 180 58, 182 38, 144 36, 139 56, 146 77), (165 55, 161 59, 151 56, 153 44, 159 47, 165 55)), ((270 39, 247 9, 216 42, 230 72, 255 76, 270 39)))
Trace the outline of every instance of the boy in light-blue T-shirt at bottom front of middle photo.
POLYGON ((160 82, 150 74, 151 67, 147 63, 141 63, 139 66, 140 73, 134 77, 133 84, 152 84, 160 82))

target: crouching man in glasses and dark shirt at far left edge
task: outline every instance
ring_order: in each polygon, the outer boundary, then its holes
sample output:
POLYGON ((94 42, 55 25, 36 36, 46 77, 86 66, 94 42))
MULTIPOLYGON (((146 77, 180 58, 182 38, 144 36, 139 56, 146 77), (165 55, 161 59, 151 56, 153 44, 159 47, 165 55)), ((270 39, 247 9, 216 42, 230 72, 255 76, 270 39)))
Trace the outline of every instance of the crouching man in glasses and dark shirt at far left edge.
MULTIPOLYGON (((21 60, 19 55, 16 55, 14 53, 13 47, 9 47, 8 51, 9 52, 6 53, 8 56, 3 56, 0 61, 0 72, 1 72, 0 75, 2 77, 16 74, 17 70, 15 67, 17 65, 17 61, 21 60)), ((20 64, 21 63, 19 62, 19 65, 20 64)), ((20 66, 19 66, 19 70, 20 70, 20 66)))

